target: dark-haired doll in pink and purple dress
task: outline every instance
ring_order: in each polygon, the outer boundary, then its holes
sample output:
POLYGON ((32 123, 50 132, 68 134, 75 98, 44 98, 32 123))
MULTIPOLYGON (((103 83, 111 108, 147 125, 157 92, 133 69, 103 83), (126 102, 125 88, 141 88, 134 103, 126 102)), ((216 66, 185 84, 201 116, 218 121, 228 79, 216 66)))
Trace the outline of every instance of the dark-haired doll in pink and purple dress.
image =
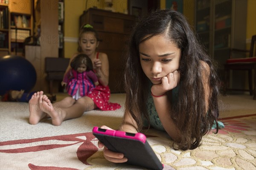
POLYGON ((67 93, 79 99, 91 93, 99 85, 93 72, 93 63, 85 54, 77 55, 70 63, 71 69, 64 75, 61 85, 66 85, 67 93))

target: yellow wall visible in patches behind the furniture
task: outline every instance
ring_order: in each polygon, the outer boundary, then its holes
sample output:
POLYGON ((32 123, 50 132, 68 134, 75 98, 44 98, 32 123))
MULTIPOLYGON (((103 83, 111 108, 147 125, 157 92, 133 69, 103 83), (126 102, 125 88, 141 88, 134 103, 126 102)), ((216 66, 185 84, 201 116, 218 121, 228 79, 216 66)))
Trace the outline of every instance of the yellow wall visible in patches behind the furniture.
MULTIPOLYGON (((96 6, 99 9, 108 8, 104 0, 87 0, 87 8, 96 6)), ((79 35, 79 17, 86 8, 86 0, 64 0, 65 22, 64 37, 72 38, 73 41, 79 35)), ((194 26, 195 0, 183 0, 183 14, 194 26)), ((160 8, 166 8, 166 0, 160 0, 160 8)), ((247 32, 246 37, 250 39, 256 35, 256 0, 247 0, 247 32)), ((115 12, 127 12, 127 0, 113 0, 113 10, 115 12)), ((66 41, 64 43, 65 58, 70 58, 78 47, 77 42, 66 41)))

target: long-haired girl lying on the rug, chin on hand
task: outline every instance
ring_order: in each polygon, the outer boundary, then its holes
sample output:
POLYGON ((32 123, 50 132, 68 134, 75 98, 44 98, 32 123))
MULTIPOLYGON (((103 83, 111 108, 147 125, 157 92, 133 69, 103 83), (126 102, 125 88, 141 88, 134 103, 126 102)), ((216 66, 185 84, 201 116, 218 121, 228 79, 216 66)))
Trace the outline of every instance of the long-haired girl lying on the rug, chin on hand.
MULTIPOLYGON (((125 84, 119 130, 137 133, 150 125, 166 131, 175 149, 188 150, 217 122, 219 81, 212 59, 179 12, 157 10, 137 24, 126 54, 125 84)), ((106 147, 103 152, 109 161, 127 161, 122 153, 106 147)))

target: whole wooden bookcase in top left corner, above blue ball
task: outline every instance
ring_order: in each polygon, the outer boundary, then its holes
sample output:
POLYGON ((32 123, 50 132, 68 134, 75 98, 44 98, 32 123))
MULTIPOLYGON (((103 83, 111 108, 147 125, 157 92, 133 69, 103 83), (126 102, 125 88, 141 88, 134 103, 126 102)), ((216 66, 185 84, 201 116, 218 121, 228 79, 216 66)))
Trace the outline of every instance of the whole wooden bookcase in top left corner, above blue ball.
POLYGON ((23 42, 33 34, 32 0, 0 0, 0 57, 23 56, 23 42))

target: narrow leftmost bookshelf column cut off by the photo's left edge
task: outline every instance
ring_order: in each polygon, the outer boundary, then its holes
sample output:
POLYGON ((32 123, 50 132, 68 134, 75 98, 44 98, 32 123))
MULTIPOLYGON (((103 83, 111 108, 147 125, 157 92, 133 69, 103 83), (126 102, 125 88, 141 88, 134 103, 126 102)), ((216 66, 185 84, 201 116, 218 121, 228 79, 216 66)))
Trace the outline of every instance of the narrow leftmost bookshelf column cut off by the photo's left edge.
POLYGON ((10 54, 10 24, 8 4, 0 3, 0 57, 10 54))

